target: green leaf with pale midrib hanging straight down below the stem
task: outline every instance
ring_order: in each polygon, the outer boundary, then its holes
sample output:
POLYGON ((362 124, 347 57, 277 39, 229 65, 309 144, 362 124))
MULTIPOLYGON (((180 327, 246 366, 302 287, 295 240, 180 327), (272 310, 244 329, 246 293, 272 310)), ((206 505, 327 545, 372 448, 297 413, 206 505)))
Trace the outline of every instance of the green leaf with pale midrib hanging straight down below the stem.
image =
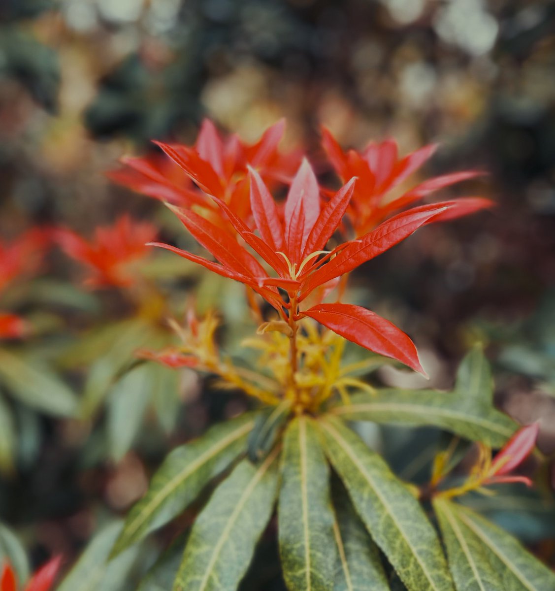
POLYGON ((285 431, 278 509, 280 555, 291 591, 333 589, 337 551, 329 466, 313 421, 295 418, 285 431))

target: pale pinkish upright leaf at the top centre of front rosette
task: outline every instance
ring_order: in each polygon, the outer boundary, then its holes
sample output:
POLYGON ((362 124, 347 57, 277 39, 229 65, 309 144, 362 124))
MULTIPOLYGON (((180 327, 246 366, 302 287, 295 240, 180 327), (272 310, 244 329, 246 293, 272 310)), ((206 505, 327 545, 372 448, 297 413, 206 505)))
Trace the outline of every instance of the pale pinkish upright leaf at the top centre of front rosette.
POLYGON ((304 158, 285 201, 285 241, 291 263, 300 264, 301 252, 320 214, 320 189, 309 161, 304 158))

